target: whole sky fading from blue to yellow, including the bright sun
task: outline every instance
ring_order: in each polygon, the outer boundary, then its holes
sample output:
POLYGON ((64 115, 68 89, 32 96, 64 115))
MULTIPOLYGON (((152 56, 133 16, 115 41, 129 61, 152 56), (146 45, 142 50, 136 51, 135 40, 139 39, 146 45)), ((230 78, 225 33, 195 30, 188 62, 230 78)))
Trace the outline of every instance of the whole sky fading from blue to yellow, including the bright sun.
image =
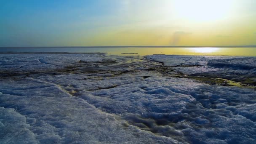
POLYGON ((256 0, 0 0, 0 46, 256 45, 256 0))

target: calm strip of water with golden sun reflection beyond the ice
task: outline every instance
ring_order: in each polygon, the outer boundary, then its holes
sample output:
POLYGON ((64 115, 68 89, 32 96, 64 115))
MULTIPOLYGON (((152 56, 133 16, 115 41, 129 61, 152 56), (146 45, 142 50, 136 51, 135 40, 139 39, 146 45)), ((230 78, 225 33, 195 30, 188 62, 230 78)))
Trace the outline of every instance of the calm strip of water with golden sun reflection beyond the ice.
POLYGON ((211 56, 256 56, 256 48, 0 48, 0 52, 104 52, 108 55, 211 55, 211 56), (138 53, 138 54, 122 54, 138 53))

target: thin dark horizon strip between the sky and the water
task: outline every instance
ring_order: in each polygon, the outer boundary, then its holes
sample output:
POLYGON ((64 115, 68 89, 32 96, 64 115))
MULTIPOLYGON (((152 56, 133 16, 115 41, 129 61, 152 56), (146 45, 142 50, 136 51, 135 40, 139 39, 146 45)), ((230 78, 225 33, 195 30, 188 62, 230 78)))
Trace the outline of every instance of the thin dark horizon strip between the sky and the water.
POLYGON ((256 48, 256 45, 0 46, 0 48, 256 48))

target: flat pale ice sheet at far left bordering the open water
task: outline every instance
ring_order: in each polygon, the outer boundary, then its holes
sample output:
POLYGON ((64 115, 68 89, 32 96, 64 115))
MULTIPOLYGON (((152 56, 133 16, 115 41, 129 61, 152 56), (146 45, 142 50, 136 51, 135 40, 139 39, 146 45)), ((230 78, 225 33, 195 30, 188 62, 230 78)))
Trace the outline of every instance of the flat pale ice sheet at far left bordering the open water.
POLYGON ((48 72, 79 66, 77 61, 102 62, 102 55, 91 54, 0 54, 0 69, 4 72, 48 72))

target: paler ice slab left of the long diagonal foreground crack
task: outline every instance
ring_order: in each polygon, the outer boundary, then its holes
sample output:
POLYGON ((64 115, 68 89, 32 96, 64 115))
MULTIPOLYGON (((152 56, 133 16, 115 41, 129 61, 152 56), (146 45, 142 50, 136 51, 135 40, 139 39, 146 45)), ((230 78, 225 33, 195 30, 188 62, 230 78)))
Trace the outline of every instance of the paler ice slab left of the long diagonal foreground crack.
MULTIPOLYGON (((12 81, 1 81, 1 85, 3 83, 12 81)), ((54 85, 42 85, 31 79, 17 81, 17 84, 21 87, 16 86, 13 93, 1 88, 1 143, 175 142, 133 127, 123 128, 123 122, 113 115, 69 96, 54 85), (29 93, 27 89, 31 87, 29 93)))

